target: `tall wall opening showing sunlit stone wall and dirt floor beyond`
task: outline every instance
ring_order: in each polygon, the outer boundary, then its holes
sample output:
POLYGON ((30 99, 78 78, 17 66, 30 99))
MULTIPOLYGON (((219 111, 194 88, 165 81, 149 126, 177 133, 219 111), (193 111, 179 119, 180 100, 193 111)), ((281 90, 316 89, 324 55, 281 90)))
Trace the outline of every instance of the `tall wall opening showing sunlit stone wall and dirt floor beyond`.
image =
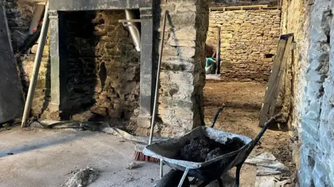
MULTIPOLYGON (((258 118, 278 39, 282 34, 281 12, 277 1, 274 6, 270 3, 258 5, 258 2, 260 1, 213 3, 209 12, 206 40, 206 52, 209 54, 206 57, 210 57, 218 51, 218 36, 221 37, 219 76, 213 78, 206 72, 205 123, 210 123, 216 109, 225 105, 215 128, 252 138, 261 130, 258 127, 258 118)), ((277 109, 280 105, 278 102, 277 109)), ((289 150, 287 129, 273 125, 266 132, 264 139, 266 145, 262 148, 272 152, 278 161, 290 168, 291 172, 286 175, 292 175, 295 168, 291 164, 292 152, 289 150), (266 137, 274 137, 277 134, 285 139, 266 137), (272 149, 271 146, 275 148, 272 149)))

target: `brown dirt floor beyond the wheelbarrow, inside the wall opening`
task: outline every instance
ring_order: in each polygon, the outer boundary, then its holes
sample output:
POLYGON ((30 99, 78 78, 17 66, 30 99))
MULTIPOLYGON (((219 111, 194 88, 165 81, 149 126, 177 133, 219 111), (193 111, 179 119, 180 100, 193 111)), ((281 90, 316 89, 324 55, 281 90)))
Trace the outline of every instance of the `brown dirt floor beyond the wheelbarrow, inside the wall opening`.
MULTIPOLYGON (((254 139, 261 130, 257 125, 266 88, 267 84, 256 82, 207 81, 204 91, 205 123, 211 123, 216 109, 225 104, 215 128, 254 139)), ((278 130, 277 125, 267 130, 254 151, 272 152, 278 161, 289 167, 287 176, 294 172, 289 134, 287 131, 278 130)))

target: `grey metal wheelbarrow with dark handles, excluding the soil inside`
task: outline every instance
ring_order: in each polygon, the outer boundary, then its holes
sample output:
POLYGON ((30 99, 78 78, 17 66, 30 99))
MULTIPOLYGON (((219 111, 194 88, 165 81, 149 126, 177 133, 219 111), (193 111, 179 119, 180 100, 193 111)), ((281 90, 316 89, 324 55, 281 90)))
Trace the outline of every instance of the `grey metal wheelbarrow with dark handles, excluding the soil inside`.
MULTIPOLYGON (((217 112, 218 114, 218 112, 217 112)), ((213 120, 212 127, 205 127, 200 126, 196 127, 191 132, 181 136, 180 138, 176 139, 168 139, 167 141, 161 141, 158 143, 153 143, 151 145, 147 145, 144 150, 143 154, 155 157, 160 159, 160 177, 162 178, 163 173, 163 165, 170 166, 173 170, 178 170, 183 172, 183 175, 180 179, 178 187, 182 187, 184 184, 184 180, 188 178, 186 177, 194 177, 193 181, 196 179, 202 180, 202 184, 199 187, 204 187, 210 184, 212 181, 218 180, 219 186, 223 187, 223 182, 221 181, 221 175, 225 172, 228 172, 233 167, 237 167, 236 177, 235 177, 235 186, 239 187, 239 176, 241 166, 246 161, 250 152, 252 152, 255 145, 261 139, 262 135, 268 129, 269 125, 276 121, 276 118, 280 116, 279 114, 273 116, 272 118, 267 121, 267 123, 262 127, 262 130, 257 137, 252 140, 247 136, 242 136, 240 134, 234 134, 230 132, 224 132, 221 130, 215 130, 213 127, 215 118, 213 120), (184 161, 177 158, 178 150, 184 147, 186 143, 188 143, 191 139, 200 137, 200 136, 207 136, 209 139, 212 139, 218 143, 225 143, 228 139, 232 139, 234 137, 239 138, 243 143, 244 146, 239 148, 239 150, 235 150, 233 152, 229 152, 228 154, 223 154, 219 157, 214 159, 204 161, 204 162, 191 162, 191 161, 184 161)), ((172 175, 170 175, 172 176, 172 175)), ((162 179, 161 179, 162 180, 162 179)), ((175 180, 175 179, 164 179, 164 180, 175 180)), ((188 186, 189 183, 187 184, 188 186)))

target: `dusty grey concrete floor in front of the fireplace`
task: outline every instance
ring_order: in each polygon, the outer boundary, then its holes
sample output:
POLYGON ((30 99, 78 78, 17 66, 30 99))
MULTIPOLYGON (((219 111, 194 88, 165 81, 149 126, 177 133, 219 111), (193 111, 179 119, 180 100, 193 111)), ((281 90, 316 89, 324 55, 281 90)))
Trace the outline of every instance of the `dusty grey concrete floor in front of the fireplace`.
MULTIPOLYGON (((127 170, 133 154, 134 144, 102 132, 15 127, 0 132, 0 186, 62 186, 71 171, 86 166, 100 171, 90 186, 153 186, 159 165, 139 162, 140 168, 127 170)), ((227 183, 234 180, 230 175, 223 177, 227 183)), ((255 167, 243 167, 241 186, 254 180, 255 167)))

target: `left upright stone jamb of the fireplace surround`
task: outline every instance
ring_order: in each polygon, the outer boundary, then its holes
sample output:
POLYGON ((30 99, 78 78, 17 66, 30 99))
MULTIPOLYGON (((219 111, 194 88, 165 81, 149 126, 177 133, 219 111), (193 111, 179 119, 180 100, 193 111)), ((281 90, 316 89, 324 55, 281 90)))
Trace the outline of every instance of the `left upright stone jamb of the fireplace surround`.
MULTIPOLYGON (((65 18, 57 11, 49 11, 50 59, 51 59, 51 103, 50 112, 61 111, 66 96, 66 38, 65 18)), ((58 117, 58 116, 57 116, 58 117)))

